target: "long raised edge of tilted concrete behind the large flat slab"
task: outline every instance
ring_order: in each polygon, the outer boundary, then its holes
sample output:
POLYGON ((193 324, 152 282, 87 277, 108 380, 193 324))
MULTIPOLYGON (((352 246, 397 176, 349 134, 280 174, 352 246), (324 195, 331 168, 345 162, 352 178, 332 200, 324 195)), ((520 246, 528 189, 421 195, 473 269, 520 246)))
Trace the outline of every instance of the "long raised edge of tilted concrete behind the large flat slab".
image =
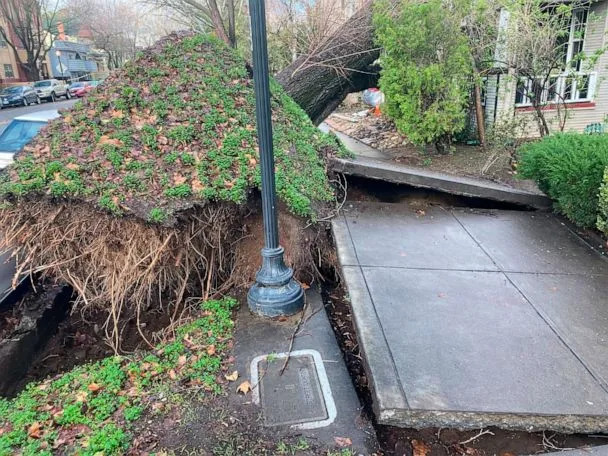
POLYGON ((331 167, 333 171, 342 174, 438 190, 470 198, 519 204, 541 210, 547 210, 553 206, 552 200, 544 194, 517 190, 479 179, 394 165, 367 157, 357 157, 355 160, 333 158, 331 167))

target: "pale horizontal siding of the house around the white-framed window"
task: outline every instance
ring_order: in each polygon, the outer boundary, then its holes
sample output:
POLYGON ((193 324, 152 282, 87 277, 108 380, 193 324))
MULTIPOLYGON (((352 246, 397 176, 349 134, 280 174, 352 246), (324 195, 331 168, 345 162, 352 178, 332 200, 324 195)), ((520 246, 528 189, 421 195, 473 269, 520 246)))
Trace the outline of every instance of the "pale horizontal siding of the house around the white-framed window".
MULTIPOLYGON (((600 0, 591 5, 593 20, 588 21, 585 33, 584 51, 587 55, 593 54, 598 49, 606 46, 606 31, 608 30, 608 0, 600 0)), ((605 52, 594 68, 584 68, 584 71, 595 71, 597 82, 593 96, 593 107, 572 107, 568 109, 565 131, 582 132, 585 127, 592 123, 603 123, 608 115, 608 52, 605 52)), ((514 108, 515 104, 515 78, 501 75, 498 88, 497 120, 501 116, 509 117, 515 112, 516 116, 526 116, 530 119, 528 128, 522 132, 524 137, 538 136, 538 126, 530 111, 522 111, 514 108)), ((550 110, 545 114, 550 124, 550 129, 556 131, 558 128, 557 111, 550 110)))

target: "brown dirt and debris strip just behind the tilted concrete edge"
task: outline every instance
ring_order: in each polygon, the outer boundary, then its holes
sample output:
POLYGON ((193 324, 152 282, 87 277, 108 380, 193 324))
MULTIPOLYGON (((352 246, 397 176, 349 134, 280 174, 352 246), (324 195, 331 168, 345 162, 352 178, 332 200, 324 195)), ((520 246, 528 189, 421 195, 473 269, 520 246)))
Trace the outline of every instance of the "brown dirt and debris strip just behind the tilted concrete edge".
MULTIPOLYGON (((360 106, 357 107, 359 109, 360 106)), ((486 179, 512 188, 538 191, 535 184, 517 177, 514 148, 453 144, 449 154, 438 154, 433 145, 416 146, 401 135, 385 116, 344 108, 327 119, 334 130, 381 150, 396 163, 447 174, 486 179), (348 120, 350 119, 350 120, 348 120)))

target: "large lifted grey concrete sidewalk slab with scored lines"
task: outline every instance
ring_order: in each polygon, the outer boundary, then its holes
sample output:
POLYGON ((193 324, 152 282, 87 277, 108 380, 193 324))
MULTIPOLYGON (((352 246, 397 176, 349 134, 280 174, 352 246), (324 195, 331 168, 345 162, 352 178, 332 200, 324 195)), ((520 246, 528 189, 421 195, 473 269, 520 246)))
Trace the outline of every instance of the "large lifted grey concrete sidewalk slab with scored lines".
POLYGON ((544 213, 333 222, 383 424, 608 432, 608 262, 544 213))

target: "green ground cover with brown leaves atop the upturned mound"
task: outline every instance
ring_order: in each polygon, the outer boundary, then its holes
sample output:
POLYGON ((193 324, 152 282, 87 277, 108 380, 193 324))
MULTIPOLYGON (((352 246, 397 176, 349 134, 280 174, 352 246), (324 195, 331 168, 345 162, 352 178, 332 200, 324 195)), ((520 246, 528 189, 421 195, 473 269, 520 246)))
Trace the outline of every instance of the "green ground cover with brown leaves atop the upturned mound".
MULTIPOLYGON (((325 158, 340 147, 278 84, 271 88, 278 196, 315 218, 334 198, 325 158)), ((260 184, 245 61, 213 37, 191 35, 141 53, 52 122, 18 154, 0 194, 83 200, 166 223, 197 202, 242 204, 260 184)))

